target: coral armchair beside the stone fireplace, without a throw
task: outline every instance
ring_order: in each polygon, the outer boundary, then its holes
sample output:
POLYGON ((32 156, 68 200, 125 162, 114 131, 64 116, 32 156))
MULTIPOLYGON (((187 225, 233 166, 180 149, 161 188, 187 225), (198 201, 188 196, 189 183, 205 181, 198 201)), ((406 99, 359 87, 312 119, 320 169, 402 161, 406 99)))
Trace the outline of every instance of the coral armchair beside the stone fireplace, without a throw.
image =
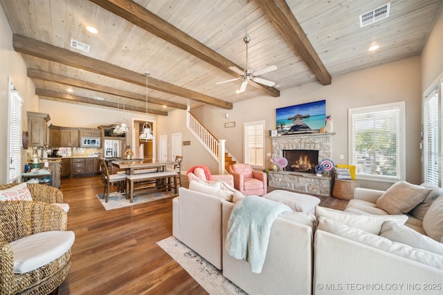
POLYGON ((244 196, 264 196, 267 189, 266 173, 254 171, 250 164, 233 164, 229 173, 234 176, 234 187, 244 196))

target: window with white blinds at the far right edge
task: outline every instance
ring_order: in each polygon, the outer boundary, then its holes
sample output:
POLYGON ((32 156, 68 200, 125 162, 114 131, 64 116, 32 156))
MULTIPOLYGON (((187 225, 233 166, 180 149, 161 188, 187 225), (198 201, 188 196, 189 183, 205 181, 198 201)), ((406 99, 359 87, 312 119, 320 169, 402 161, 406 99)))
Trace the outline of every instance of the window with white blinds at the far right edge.
POLYGON ((440 186, 441 175, 439 173, 441 162, 439 155, 442 152, 439 148, 440 142, 440 126, 442 121, 440 120, 439 113, 441 112, 440 98, 438 87, 435 87, 429 95, 424 99, 424 181, 430 182, 440 186))

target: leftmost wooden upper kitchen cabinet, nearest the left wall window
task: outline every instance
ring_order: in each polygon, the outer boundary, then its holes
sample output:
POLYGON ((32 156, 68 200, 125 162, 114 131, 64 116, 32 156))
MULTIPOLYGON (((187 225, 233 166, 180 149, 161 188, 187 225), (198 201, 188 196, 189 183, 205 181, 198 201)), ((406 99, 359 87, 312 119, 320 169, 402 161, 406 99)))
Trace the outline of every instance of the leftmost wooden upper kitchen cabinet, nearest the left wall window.
POLYGON ((48 114, 28 112, 28 134, 30 146, 44 146, 48 143, 48 114))

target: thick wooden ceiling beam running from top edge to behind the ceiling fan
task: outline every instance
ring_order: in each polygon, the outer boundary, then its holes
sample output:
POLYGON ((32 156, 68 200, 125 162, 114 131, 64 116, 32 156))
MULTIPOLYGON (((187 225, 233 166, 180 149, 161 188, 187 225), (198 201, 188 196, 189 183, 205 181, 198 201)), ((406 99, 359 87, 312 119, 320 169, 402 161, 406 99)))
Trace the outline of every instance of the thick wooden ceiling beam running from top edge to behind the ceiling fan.
MULTIPOLYGON (((154 13, 146 10, 132 0, 89 1, 96 3, 98 6, 108 10, 109 12, 114 13, 114 15, 118 15, 119 17, 134 23, 134 25, 143 28, 143 30, 146 30, 153 35, 168 41, 170 44, 174 44, 178 48, 185 50, 187 53, 208 62, 208 64, 216 66, 233 77, 238 77, 239 75, 231 70, 229 68, 230 66, 243 69, 242 66, 234 64, 233 61, 219 55, 219 53, 186 34, 186 32, 172 26, 172 24, 168 23, 168 21, 154 15, 154 13)), ((249 84, 255 86, 255 88, 264 89, 266 93, 273 97, 280 96, 280 91, 278 91, 276 88, 258 84, 252 80, 249 80, 249 84)))

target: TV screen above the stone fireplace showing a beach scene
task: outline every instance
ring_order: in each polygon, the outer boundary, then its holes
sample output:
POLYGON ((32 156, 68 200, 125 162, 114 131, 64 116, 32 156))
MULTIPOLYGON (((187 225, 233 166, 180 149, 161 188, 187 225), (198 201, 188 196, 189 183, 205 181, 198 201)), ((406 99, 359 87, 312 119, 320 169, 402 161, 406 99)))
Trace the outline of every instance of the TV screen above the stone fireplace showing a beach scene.
POLYGON ((277 108, 275 117, 278 133, 315 133, 325 126, 326 100, 277 108))

